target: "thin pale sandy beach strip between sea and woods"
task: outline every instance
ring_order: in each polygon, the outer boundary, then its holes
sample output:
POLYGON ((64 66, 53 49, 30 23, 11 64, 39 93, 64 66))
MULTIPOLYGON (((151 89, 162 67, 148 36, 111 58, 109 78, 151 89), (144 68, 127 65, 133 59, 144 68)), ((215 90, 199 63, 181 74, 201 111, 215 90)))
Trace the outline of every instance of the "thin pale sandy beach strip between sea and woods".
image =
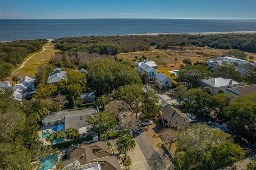
MULTIPOLYGON (((99 37, 111 37, 111 36, 157 36, 157 35, 172 35, 172 34, 188 34, 188 35, 217 35, 217 34, 256 34, 256 31, 235 31, 235 32, 166 32, 166 33, 145 33, 145 34, 122 34, 122 35, 110 35, 110 36, 99 36, 99 37)), ((72 37, 83 37, 83 36, 72 36, 72 37)), ((90 36, 87 36, 90 37, 90 36)), ((97 36, 98 37, 98 36, 97 36)), ((66 38, 66 37, 63 37, 66 38)), ((46 39, 48 41, 52 41, 58 38, 46 39)), ((34 39, 36 40, 36 39, 34 39)), ((15 40, 20 41, 20 40, 15 40)), ((25 40, 29 41, 29 40, 25 40)), ((1 41, 0 41, 1 42, 1 41)), ((13 42, 13 41, 3 41, 5 42, 13 42)))

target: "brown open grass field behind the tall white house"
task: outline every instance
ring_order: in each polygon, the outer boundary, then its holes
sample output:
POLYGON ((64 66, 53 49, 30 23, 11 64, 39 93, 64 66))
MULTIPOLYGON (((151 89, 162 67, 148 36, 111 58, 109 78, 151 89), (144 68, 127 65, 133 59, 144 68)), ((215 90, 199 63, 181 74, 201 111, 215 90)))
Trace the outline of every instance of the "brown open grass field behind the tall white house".
MULTIPOLYGON (((136 51, 136 52, 130 52, 130 53, 120 53, 118 54, 118 58, 127 59, 131 63, 136 62, 134 57, 137 55, 138 59, 142 57, 142 55, 146 55, 149 57, 156 57, 157 55, 160 55, 160 59, 163 59, 167 63, 167 67, 159 66, 157 69, 161 73, 165 74, 166 76, 170 77, 171 70, 178 70, 180 68, 180 65, 183 64, 183 59, 191 59, 192 64, 194 64, 196 61, 206 61, 206 59, 212 59, 217 58, 220 56, 223 56, 223 54, 229 51, 227 49, 214 49, 210 47, 196 47, 196 46, 190 46, 190 47, 172 47, 171 49, 156 49, 155 47, 151 47, 148 51, 136 51), (178 61, 176 62, 174 59, 177 58, 178 61)), ((255 53, 246 53, 247 58, 249 56, 253 56, 256 60, 256 54, 255 53)), ((137 59, 137 61, 138 61, 137 59)), ((172 78, 172 77, 170 77, 172 78)), ((175 78, 175 77, 174 77, 175 78)))

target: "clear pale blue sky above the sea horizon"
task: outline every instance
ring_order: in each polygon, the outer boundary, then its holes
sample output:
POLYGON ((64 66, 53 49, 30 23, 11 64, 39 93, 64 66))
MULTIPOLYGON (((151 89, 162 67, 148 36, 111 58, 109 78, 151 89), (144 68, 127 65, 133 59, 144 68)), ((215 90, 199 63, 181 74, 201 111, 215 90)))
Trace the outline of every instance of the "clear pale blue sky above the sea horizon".
POLYGON ((256 19, 256 0, 0 0, 1 19, 256 19))

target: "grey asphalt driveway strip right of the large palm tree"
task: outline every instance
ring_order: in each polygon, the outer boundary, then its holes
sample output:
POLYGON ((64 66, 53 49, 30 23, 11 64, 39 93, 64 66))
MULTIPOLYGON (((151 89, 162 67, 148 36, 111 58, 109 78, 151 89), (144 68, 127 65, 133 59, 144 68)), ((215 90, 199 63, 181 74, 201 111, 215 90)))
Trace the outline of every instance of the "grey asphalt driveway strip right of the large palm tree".
POLYGON ((135 140, 147 160, 152 156, 154 152, 156 152, 155 148, 152 146, 144 133, 136 136, 135 140))

